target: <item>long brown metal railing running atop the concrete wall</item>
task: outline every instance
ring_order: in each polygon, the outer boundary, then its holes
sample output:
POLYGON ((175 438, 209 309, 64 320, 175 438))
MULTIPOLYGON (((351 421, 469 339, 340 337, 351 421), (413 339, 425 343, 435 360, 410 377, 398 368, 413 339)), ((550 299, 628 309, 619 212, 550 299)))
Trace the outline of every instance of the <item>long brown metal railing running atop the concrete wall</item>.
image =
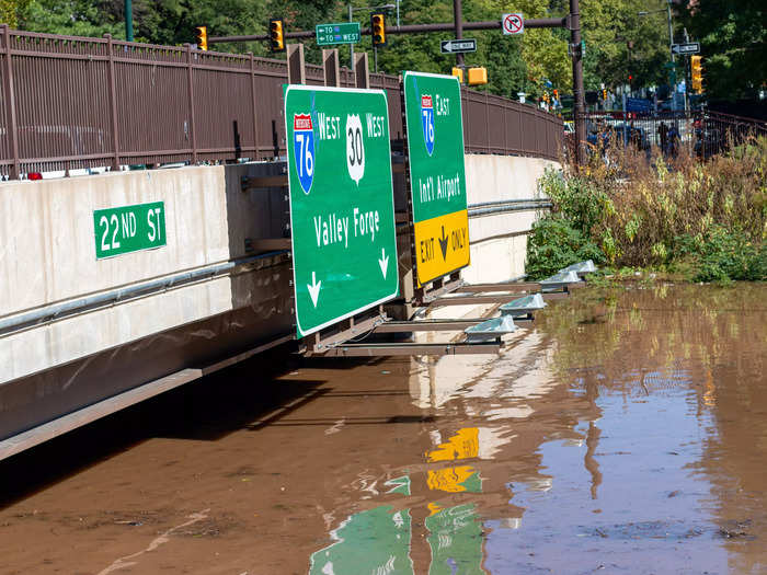
MULTIPOLYGON (((0 25, 0 174, 121 164, 268 159, 285 153, 284 60, 0 25)), ((307 83, 323 82, 307 66, 307 83)), ((343 69, 341 85, 353 87, 343 69)), ((402 137, 399 79, 390 133, 402 137)), ((466 150, 559 159, 562 122, 511 100, 462 91, 466 150)))

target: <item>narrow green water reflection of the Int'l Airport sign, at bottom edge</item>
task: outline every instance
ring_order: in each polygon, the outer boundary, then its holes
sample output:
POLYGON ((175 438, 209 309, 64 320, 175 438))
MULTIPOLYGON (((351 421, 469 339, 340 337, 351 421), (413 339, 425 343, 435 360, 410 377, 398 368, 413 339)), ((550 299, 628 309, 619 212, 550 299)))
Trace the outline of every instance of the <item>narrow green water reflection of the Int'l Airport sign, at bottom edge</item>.
POLYGON ((426 528, 432 532, 428 575, 484 575, 482 528, 473 504, 449 507, 427 517, 426 528))

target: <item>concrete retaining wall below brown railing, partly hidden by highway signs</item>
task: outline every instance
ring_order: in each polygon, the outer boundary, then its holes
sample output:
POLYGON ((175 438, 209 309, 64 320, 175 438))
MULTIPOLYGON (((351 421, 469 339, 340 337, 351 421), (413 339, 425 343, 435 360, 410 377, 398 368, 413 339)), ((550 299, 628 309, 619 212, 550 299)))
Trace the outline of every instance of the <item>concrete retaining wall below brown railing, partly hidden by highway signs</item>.
MULTIPOLYGON (((553 162, 467 156, 469 204, 539 197, 553 162)), ((291 333, 290 268, 271 255, 237 273, 3 330, 31 312, 253 255, 286 232, 285 191, 241 191, 278 164, 195 166, 0 184, 0 439, 152 378, 291 333), (163 202, 167 245, 98 260, 93 211, 163 202)), ((398 183, 402 179, 397 180, 398 183)), ((404 191, 396 191, 402 205, 404 191)), ((524 271, 535 211, 470 219, 468 281, 524 271)), ((402 257, 400 258, 402 261, 402 257)), ((401 273, 401 275, 404 275, 401 273)), ((403 290, 407 292, 407 290, 403 290)))

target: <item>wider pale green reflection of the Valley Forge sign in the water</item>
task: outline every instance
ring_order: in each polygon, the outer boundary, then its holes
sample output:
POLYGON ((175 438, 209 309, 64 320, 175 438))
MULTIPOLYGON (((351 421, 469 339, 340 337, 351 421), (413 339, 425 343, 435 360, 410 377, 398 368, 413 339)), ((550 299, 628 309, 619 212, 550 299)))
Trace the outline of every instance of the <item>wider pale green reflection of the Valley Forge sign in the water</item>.
POLYGON ((310 575, 412 574, 410 521, 408 509, 388 505, 354 514, 331 531, 335 543, 312 553, 310 575))

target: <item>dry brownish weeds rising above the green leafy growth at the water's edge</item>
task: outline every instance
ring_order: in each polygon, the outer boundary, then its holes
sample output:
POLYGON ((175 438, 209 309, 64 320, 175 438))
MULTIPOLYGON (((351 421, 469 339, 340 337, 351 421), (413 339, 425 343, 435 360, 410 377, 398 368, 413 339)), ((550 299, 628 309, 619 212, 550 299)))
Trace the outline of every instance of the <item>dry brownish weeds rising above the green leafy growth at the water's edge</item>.
POLYGON ((767 138, 752 139, 706 162, 682 148, 664 158, 629 147, 592 153, 553 186, 557 208, 581 223, 616 265, 668 263, 680 238, 705 241, 713 231, 767 239, 767 138), (581 197, 577 197, 581 196, 581 197), (597 212, 584 218, 588 205, 597 212))

